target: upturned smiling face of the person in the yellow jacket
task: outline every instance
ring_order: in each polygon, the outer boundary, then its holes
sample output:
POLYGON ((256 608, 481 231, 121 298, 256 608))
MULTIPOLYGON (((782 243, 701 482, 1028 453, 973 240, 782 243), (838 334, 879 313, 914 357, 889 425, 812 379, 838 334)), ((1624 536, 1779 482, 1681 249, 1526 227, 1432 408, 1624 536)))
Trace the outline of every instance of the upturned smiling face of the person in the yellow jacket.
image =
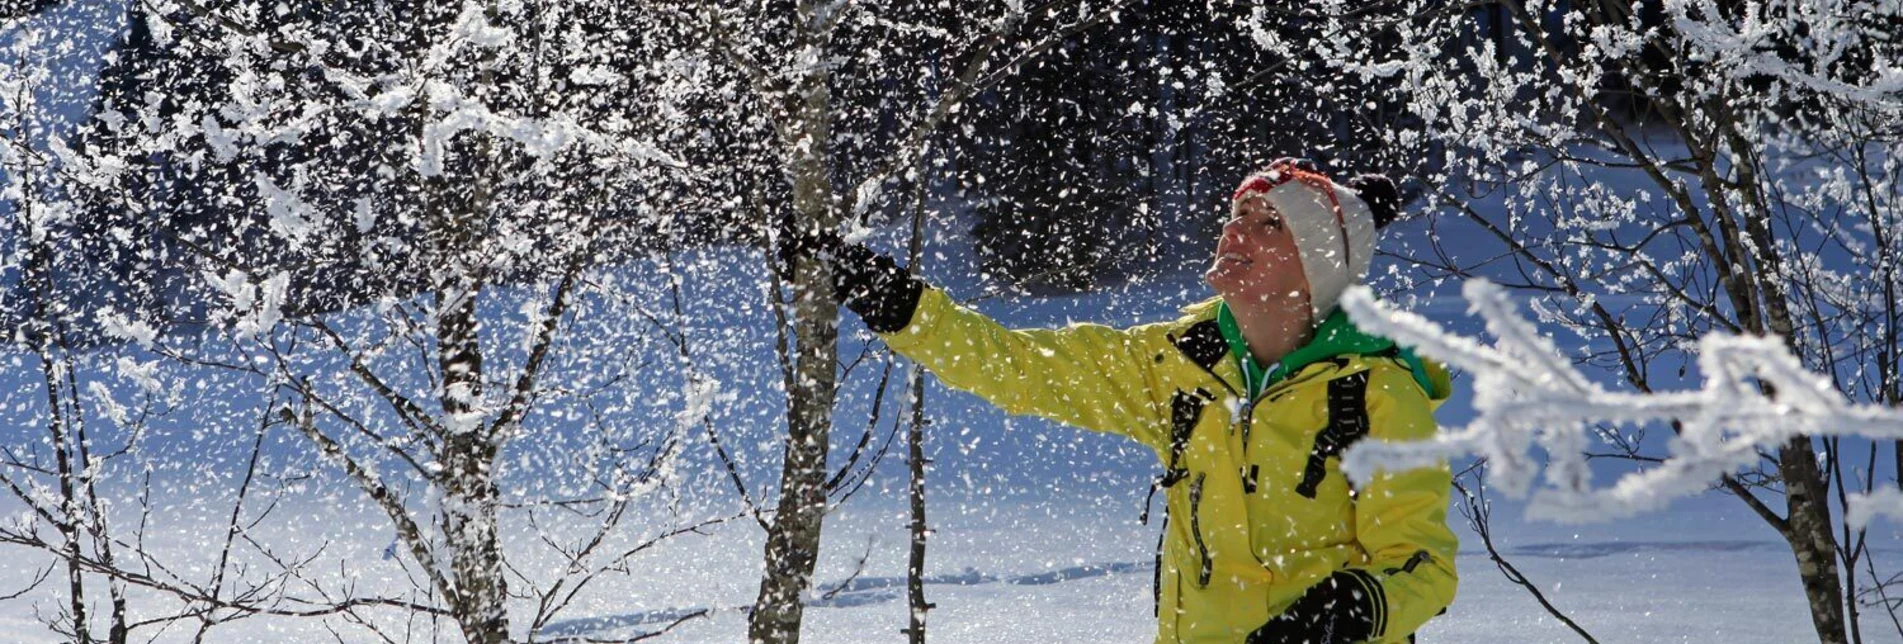
POLYGON ((1307 303, 1307 276, 1294 232, 1260 192, 1245 196, 1235 217, 1222 225, 1214 263, 1203 280, 1229 307, 1307 303))

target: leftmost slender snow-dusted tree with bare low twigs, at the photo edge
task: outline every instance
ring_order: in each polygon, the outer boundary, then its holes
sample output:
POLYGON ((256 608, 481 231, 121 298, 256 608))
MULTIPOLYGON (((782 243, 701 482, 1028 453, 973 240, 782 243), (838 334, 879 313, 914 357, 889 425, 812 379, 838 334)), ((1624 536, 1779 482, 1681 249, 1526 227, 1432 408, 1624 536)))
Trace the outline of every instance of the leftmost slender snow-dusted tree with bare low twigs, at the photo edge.
MULTIPOLYGON (((57 598, 40 617, 49 631, 112 644, 166 631, 206 638, 245 617, 337 615, 383 602, 318 579, 295 551, 322 543, 251 539, 280 528, 268 520, 270 507, 295 478, 295 469, 263 455, 274 425, 266 410, 194 400, 143 352, 158 330, 97 307, 114 284, 78 248, 88 221, 74 196, 93 189, 95 175, 76 162, 72 133, 95 72, 76 61, 110 46, 103 29, 84 25, 110 19, 99 6, 49 13, 0 23, 0 320, 4 347, 21 349, 4 351, 10 387, 0 396, 8 427, 0 490, 21 513, 0 526, 0 545, 10 558, 48 562, 6 598, 38 606, 44 596, 34 591, 46 585, 57 598), (103 328, 124 343, 105 341, 103 328), (223 453, 190 461, 154 438, 186 431, 228 434, 228 442, 217 440, 223 453), (200 480, 177 484, 171 474, 181 463, 196 467, 200 480), (198 549, 147 547, 179 524, 200 539, 198 549), (213 524, 219 530, 198 530, 213 524), (293 585, 316 593, 287 593, 293 585)), ((198 387, 198 394, 232 391, 198 387)))

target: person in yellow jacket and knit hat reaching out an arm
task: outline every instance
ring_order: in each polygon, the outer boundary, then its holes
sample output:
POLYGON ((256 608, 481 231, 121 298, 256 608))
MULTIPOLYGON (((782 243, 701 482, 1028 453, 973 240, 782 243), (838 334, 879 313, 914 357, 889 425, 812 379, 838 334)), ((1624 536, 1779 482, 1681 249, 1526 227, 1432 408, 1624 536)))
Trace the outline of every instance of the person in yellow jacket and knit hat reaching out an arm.
POLYGON ((837 236, 835 295, 885 343, 1009 413, 1130 436, 1165 467, 1155 642, 1410 642, 1456 589, 1450 471, 1340 471, 1361 438, 1418 440, 1446 372, 1336 309, 1395 219, 1385 177, 1279 160, 1231 198, 1205 280, 1172 322, 1007 330, 837 236))

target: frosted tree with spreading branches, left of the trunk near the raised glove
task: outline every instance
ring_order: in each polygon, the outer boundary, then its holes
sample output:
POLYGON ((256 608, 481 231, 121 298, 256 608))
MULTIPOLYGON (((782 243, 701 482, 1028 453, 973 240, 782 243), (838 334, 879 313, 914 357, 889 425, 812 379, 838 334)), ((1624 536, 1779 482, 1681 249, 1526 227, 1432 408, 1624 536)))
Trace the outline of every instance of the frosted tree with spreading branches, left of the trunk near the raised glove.
POLYGON ((344 602, 348 621, 535 638, 657 539, 727 518, 674 486, 723 392, 641 362, 677 316, 655 311, 672 282, 626 265, 681 179, 649 133, 685 118, 668 86, 693 70, 643 38, 655 15, 128 11, 147 57, 124 63, 145 72, 103 86, 84 143, 55 147, 86 215, 44 248, 150 276, 99 307, 105 333, 173 377, 268 392, 265 427, 384 516, 413 587, 344 602))

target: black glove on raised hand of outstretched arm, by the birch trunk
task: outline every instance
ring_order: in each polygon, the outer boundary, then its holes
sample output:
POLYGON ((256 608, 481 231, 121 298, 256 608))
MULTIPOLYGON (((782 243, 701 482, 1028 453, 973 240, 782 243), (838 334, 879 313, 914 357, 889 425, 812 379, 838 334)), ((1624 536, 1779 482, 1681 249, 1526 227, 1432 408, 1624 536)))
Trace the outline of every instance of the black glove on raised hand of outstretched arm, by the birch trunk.
POLYGON ((834 301, 853 309, 875 333, 893 333, 912 324, 919 309, 925 282, 898 267, 898 261, 875 253, 864 244, 849 244, 832 231, 786 227, 780 236, 780 265, 792 267, 797 257, 820 257, 834 263, 834 301))

